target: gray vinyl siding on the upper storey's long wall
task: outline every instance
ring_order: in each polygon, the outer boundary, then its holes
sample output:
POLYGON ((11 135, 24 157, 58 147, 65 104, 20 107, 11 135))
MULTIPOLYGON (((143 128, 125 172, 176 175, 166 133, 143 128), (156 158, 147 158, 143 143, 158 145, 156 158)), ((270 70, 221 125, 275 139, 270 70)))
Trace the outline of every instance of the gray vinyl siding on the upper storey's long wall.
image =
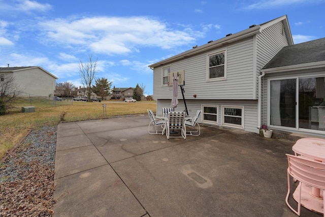
MULTIPOLYGON (((161 69, 153 71, 154 99, 171 99, 169 87, 161 86, 161 69)), ((253 99, 253 38, 201 53, 171 64, 171 71, 185 70, 185 99, 253 99), (226 80, 207 81, 207 55, 226 50, 226 80)), ((179 91, 180 92, 180 91, 179 91)), ((181 99, 178 95, 178 99, 181 99)))

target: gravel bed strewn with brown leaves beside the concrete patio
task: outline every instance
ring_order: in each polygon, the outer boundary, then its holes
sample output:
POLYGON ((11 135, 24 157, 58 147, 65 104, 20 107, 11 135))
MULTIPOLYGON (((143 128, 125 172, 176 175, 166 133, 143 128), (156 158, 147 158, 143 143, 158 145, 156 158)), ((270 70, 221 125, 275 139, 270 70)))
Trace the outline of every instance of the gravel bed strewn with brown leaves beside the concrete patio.
POLYGON ((0 216, 53 214, 56 126, 31 131, 0 165, 0 216))

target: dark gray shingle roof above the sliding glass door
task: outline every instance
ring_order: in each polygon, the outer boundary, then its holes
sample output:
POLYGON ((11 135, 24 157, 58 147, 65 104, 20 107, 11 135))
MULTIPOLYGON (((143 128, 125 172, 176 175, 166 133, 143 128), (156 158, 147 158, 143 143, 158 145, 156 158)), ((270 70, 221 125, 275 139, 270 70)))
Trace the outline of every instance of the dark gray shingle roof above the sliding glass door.
POLYGON ((325 61, 325 38, 283 47, 263 69, 325 61))

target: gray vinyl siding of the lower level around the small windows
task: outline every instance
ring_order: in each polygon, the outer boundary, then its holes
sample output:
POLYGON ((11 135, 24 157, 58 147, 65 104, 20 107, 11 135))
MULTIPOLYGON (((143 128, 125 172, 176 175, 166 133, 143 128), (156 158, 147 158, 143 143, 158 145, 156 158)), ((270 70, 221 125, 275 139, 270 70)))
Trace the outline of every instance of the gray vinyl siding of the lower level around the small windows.
MULTIPOLYGON (((222 120, 222 105, 227 106, 243 106, 244 107, 244 129, 245 131, 256 133, 257 127, 257 101, 255 100, 186 100, 186 106, 188 109, 188 114, 194 116, 198 109, 202 109, 202 105, 214 105, 218 106, 218 127, 223 127, 221 125, 222 120)), ((161 114, 161 108, 171 107, 171 100, 158 100, 157 101, 157 114, 161 114)), ((185 105, 183 100, 179 100, 179 104, 175 111, 183 111, 185 105)), ((199 118, 199 123, 202 122, 202 116, 199 118)), ((211 125, 211 123, 203 123, 206 125, 211 125)))

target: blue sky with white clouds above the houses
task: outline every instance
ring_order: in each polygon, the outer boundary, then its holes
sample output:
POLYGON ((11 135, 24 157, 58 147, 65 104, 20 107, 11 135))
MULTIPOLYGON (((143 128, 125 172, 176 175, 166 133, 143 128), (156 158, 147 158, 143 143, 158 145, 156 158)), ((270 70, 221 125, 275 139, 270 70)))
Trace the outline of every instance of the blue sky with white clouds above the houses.
POLYGON ((98 78, 145 86, 148 65, 252 24, 288 16, 294 43, 325 37, 325 0, 0 0, 0 67, 41 66, 81 85, 79 59, 98 58, 98 78))

